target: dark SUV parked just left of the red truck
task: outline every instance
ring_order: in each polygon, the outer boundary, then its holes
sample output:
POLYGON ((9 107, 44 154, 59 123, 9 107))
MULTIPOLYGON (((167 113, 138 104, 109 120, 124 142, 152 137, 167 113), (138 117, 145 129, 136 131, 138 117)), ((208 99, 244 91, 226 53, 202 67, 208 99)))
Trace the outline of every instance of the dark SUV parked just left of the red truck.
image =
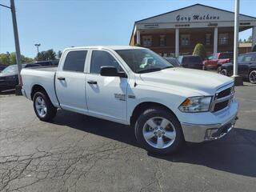
POLYGON ((190 69, 202 70, 202 58, 196 55, 182 55, 178 57, 181 66, 190 69))

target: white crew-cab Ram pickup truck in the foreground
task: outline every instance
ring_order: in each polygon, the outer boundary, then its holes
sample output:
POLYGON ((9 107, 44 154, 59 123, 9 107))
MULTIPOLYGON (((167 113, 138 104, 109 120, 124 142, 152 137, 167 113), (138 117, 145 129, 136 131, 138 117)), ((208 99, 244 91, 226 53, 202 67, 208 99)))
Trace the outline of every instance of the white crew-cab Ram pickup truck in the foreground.
POLYGON ((238 114, 232 78, 174 67, 142 47, 68 48, 58 67, 23 69, 22 82, 40 120, 63 109, 130 125, 146 150, 160 154, 221 138, 238 114))

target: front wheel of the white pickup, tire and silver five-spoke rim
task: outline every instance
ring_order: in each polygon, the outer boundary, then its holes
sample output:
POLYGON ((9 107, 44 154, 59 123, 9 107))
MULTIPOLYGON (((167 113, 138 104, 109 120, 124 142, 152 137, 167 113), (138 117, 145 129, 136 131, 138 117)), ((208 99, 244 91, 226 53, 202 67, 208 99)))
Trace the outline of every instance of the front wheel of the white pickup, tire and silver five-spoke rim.
POLYGON ((174 153, 185 142, 178 118, 161 108, 148 109, 138 117, 135 136, 138 143, 153 154, 174 153))

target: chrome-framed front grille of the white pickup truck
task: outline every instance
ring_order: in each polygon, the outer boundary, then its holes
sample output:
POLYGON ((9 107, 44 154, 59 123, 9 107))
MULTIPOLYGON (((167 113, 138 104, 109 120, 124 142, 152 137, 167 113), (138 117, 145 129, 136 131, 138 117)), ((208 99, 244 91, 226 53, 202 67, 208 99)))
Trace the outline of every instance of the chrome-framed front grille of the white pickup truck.
POLYGON ((225 109, 234 98, 234 84, 220 88, 214 96, 211 111, 216 112, 225 109))

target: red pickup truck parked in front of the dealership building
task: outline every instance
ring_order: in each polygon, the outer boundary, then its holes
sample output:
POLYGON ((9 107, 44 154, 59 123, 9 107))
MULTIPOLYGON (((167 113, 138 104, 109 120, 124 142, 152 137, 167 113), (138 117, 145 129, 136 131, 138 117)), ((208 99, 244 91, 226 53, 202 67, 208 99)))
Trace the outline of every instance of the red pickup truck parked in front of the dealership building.
POLYGON ((222 52, 213 54, 208 59, 203 61, 203 68, 204 70, 210 70, 210 69, 218 69, 218 66, 233 61, 233 53, 232 52, 222 52))

